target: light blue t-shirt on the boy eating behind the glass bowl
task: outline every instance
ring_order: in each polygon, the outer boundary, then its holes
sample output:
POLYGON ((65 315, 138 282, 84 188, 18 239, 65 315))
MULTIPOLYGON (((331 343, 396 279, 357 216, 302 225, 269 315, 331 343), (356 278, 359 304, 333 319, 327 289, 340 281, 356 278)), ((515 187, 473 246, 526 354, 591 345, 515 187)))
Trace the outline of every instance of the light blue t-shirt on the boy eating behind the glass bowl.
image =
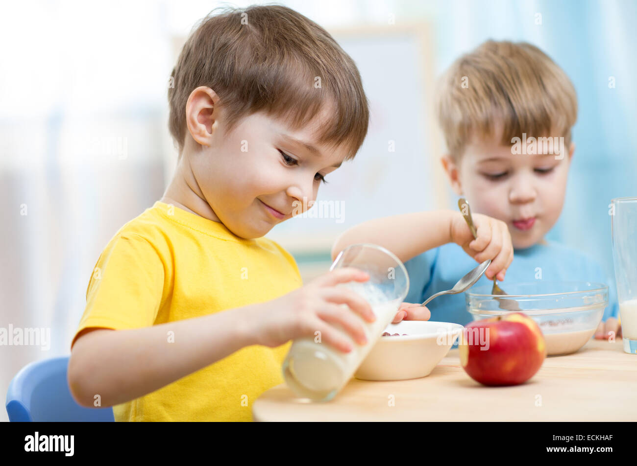
MULTIPOLYGON (((434 293, 450 290, 455 283, 476 267, 475 259, 469 257, 460 246, 448 243, 426 251, 405 262, 409 273, 410 288, 406 302, 423 302, 434 293)), ((590 281, 608 285, 608 306, 602 320, 617 317, 617 291, 615 285, 595 260, 580 251, 558 243, 535 244, 530 248, 513 251, 513 262, 506 269, 502 284, 535 281, 536 276, 547 281, 590 281), (538 269, 540 267, 540 269, 538 269)), ((489 285, 493 281, 486 276, 473 286, 489 285)), ((454 322, 467 325, 473 321, 466 307, 464 293, 442 295, 427 304, 432 321, 454 322)))

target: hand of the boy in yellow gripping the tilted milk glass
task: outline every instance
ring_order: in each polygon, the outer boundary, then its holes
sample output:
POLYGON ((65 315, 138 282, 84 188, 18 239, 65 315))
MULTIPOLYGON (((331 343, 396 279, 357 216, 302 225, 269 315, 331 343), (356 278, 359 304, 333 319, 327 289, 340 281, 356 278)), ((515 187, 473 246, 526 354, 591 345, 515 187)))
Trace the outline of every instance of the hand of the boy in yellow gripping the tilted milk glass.
POLYGON ((376 316, 362 296, 336 285, 368 279, 369 274, 351 267, 327 272, 287 295, 255 306, 248 316, 250 333, 257 344, 271 347, 299 337, 320 336, 322 343, 351 351, 354 342, 366 342, 364 327, 354 313, 368 322, 375 321, 376 316))

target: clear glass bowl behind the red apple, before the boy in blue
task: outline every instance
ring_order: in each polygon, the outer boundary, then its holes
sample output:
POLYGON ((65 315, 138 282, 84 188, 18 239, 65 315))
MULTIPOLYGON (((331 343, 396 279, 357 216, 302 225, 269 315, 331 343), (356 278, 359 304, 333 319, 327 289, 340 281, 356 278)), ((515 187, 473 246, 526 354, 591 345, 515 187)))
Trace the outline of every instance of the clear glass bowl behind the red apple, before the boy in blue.
POLYGON ((492 285, 474 286, 465 293, 467 310, 473 320, 512 312, 527 314, 540 326, 549 356, 575 353, 582 348, 595 333, 608 305, 608 286, 603 283, 505 283, 506 296, 492 295, 491 288, 492 285), (520 311, 501 309, 501 302, 496 298, 515 301, 520 311))

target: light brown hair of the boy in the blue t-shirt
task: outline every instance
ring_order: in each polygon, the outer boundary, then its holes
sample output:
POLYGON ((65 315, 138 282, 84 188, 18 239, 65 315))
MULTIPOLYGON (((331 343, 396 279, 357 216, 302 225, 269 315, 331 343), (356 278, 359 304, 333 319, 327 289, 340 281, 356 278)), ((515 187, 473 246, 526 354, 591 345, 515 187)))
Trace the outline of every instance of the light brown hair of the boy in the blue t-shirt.
POLYGON ((522 132, 542 137, 556 131, 568 146, 577 96, 566 73, 536 46, 490 40, 443 74, 437 112, 452 157, 476 136, 511 145, 522 132))

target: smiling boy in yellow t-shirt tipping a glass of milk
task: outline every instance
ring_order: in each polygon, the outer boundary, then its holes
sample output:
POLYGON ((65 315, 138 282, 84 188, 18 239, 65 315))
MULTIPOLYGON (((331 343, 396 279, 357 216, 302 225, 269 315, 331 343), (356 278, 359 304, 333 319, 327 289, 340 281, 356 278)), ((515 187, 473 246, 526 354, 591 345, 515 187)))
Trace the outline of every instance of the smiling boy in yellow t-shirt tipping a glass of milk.
MULTIPOLYGON (((354 157, 368 104, 352 59, 283 6, 204 18, 173 84, 175 176, 97 260, 69 387, 82 406, 113 406, 118 421, 251 420, 254 400, 283 381, 290 340, 318 330, 323 343, 351 351, 365 339, 355 314, 375 318, 362 297, 336 287, 366 274, 341 269, 301 286, 294 259, 263 238, 354 157)), ((447 220, 422 234, 448 231, 447 220)), ((490 230, 485 222, 481 232, 490 230)), ((429 312, 404 304, 394 321, 403 318, 429 312)))

